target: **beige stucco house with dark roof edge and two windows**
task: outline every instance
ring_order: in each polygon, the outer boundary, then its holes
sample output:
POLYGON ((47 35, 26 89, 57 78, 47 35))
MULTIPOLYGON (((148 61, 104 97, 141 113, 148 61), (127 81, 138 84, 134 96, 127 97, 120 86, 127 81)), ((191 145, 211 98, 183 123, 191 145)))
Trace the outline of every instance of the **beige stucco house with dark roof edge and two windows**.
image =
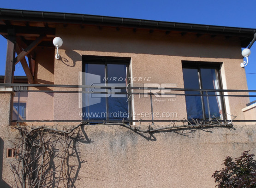
POLYGON ((211 176, 226 156, 256 154, 256 106, 246 107, 240 67, 241 47, 255 32, 0 9, 7 39, 1 183, 12 185, 8 164, 14 159, 6 158, 6 149, 15 147, 17 123, 72 127, 83 121, 79 156, 86 162, 73 161, 79 166, 75 187, 214 187, 211 176), (55 37, 63 41, 59 59, 55 37), (23 85, 27 92, 10 88, 19 61, 31 84, 23 85))

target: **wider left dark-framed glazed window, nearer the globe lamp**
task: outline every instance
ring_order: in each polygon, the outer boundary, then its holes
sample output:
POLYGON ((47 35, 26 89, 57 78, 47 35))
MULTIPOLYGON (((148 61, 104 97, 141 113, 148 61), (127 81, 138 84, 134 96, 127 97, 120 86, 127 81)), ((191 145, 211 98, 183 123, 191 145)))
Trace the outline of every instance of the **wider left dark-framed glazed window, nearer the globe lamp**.
MULTIPOLYGON (((83 56, 83 85, 119 86, 129 84, 129 63, 127 58, 111 58, 99 56, 83 56)), ((83 119, 122 120, 129 119, 131 104, 126 89, 85 88, 91 94, 83 94, 83 119), (94 94, 93 92, 107 92, 94 94)))

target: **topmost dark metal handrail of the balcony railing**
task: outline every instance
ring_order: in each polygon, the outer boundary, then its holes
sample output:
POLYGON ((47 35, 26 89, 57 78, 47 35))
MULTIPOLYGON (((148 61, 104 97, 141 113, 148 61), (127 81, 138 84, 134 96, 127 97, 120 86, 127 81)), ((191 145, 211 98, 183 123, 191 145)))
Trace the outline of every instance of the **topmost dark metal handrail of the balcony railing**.
POLYGON ((208 91, 208 92, 256 92, 256 90, 243 89, 187 89, 187 88, 157 88, 157 87, 120 87, 120 86, 87 86, 87 85, 59 85, 59 84, 20 84, 0 83, 0 86, 27 86, 27 87, 48 87, 48 88, 95 88, 95 89, 145 89, 145 90, 173 90, 173 91, 208 91))

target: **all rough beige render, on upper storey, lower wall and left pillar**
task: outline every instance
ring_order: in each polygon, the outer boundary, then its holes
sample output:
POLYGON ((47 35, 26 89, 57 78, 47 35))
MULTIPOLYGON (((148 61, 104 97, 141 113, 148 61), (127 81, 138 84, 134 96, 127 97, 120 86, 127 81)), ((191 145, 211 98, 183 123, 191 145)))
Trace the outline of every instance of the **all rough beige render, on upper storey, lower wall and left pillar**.
MULTIPOLYGON (((222 62, 223 88, 247 89, 244 69, 239 66, 241 49, 235 38, 165 35, 158 31, 149 34, 146 30, 134 33, 132 29, 81 29, 71 25, 65 28, 60 25, 56 31, 64 41, 60 48, 61 58, 55 61, 49 58, 50 55, 54 57, 52 48, 36 49, 40 54, 36 57, 39 62, 35 73, 37 83, 77 84, 82 55, 100 55, 130 57, 132 77, 150 77, 150 82, 146 83, 177 83, 178 88, 184 87, 183 60, 222 62)), ((30 112, 31 117, 41 118, 37 117, 40 112, 46 117, 42 119, 80 119, 77 94, 35 96, 36 100, 31 99, 31 102, 38 109, 30 112)), ((0 165, 0 176, 1 185, 5 186, 4 183, 12 179, 8 164, 13 160, 6 159, 6 148, 14 147, 10 138, 13 141, 17 133, 8 126, 11 95, 1 94, 0 101, 0 157, 4 164, 0 165)), ((227 112, 236 114, 237 119, 244 119, 241 109, 249 98, 226 97, 225 102, 227 112)), ((136 96, 133 105, 137 113, 150 111, 149 98, 136 96)), ((155 102, 153 106, 155 112, 177 112, 177 119, 186 117, 185 97, 176 97, 170 103, 155 102)), ((235 123, 233 129, 185 129, 154 135, 137 134, 119 126, 84 126, 84 141, 79 144, 79 150, 86 162, 81 164, 76 187, 214 188, 211 175, 220 170, 226 156, 238 157, 244 150, 256 154, 255 133, 255 126, 242 123, 235 123)), ((76 164, 76 159, 70 160, 76 164)))

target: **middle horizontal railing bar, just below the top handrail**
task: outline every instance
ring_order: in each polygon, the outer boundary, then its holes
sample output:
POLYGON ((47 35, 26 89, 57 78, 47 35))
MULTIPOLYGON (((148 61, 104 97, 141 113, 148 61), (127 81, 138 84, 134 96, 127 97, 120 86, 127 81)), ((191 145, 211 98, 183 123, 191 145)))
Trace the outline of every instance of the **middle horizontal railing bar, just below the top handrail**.
MULTIPOLYGON (((138 94, 149 94, 155 95, 153 92, 149 93, 129 93, 129 92, 88 92, 88 91, 52 91, 52 90, 14 90, 15 92, 34 92, 34 93, 84 93, 84 94, 131 94, 131 95, 138 95, 138 94)), ((158 95, 177 95, 177 96, 220 96, 220 97, 256 97, 256 95, 240 95, 240 94, 161 94, 158 95)))

